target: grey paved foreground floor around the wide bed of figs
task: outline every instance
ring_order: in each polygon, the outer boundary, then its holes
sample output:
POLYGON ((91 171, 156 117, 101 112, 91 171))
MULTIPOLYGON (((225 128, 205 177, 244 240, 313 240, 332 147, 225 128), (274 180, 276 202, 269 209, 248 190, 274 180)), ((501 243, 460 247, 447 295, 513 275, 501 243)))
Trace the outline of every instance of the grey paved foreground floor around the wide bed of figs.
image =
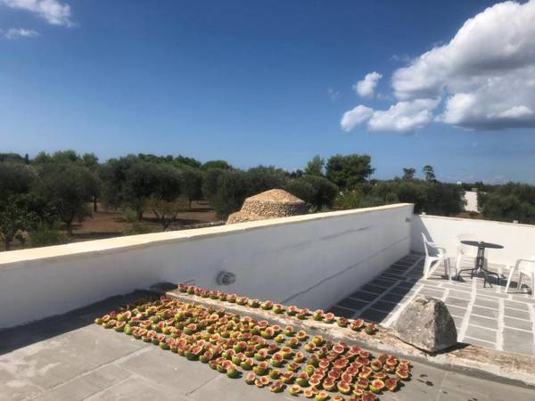
MULTIPOLYGON (((95 315, 139 298, 111 299, 84 310, 0 331, 0 399, 282 400, 296 397, 230 380, 204 364, 92 324, 95 315)), ((535 399, 535 389, 415 364, 413 380, 382 400, 535 399)), ((297 399, 305 399, 299 397, 297 399)))

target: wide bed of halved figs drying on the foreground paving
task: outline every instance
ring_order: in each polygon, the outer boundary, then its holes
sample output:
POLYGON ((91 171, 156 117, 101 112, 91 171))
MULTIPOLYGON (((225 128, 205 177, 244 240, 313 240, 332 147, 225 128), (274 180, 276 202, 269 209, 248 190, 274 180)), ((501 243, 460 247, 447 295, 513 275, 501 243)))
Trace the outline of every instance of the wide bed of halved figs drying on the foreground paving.
POLYGON ((112 311, 95 319, 104 328, 170 349, 188 360, 209 364, 230 378, 273 392, 325 400, 374 400, 399 389, 410 377, 410 364, 395 356, 369 352, 292 326, 270 325, 251 316, 227 313, 162 297, 112 311), (302 349, 302 350, 301 350, 302 349))

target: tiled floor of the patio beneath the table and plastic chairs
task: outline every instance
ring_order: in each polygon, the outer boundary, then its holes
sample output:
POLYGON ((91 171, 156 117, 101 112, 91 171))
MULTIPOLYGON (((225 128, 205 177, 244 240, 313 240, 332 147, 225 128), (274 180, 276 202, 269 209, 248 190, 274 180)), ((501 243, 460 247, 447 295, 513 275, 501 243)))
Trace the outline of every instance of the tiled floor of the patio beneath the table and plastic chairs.
MULTIPOLYGON (((469 263, 470 261, 468 261, 469 263)), ((457 325, 457 340, 482 347, 535 355, 535 299, 523 287, 505 291, 506 280, 483 288, 482 278, 463 275, 460 282, 447 280, 443 266, 425 280, 424 258, 411 254, 383 274, 343 299, 332 312, 346 317, 361 316, 391 326, 410 300, 425 294, 443 300, 457 325)), ((470 267, 470 266, 463 266, 470 267)), ((502 266, 490 270, 507 273, 502 266)), ((514 277, 514 280, 517 280, 514 277)))

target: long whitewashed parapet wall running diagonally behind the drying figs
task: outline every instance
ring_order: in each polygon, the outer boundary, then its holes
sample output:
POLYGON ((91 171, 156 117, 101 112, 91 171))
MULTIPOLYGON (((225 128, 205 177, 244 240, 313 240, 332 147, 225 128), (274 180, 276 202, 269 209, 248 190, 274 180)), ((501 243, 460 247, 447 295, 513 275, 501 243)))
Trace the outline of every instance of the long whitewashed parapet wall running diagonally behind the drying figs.
POLYGON ((412 204, 0 253, 0 328, 148 288, 194 282, 331 307, 410 249, 412 204), (219 286, 228 271, 235 283, 219 286))

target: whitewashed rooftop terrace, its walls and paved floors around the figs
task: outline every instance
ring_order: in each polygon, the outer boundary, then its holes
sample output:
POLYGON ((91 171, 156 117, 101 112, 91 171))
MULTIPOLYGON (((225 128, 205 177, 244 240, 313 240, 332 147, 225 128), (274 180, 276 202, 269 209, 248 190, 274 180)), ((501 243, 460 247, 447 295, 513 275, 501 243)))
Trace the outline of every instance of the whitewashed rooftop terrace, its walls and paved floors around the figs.
MULTIPOLYGON (((535 226, 416 216, 412 205, 399 204, 4 252, 0 398, 291 397, 251 389, 202 364, 92 324, 95 316, 139 297, 132 294, 136 289, 155 282, 188 282, 362 316, 385 328, 416 294, 432 295, 449 307, 459 342, 490 352, 463 351, 465 344, 450 356, 410 351, 420 356, 413 380, 403 391, 381 399, 533 399, 535 390, 510 382, 535 384, 535 370, 530 372, 535 366, 531 295, 505 293, 498 285, 483 289, 478 278, 448 281, 440 276, 441 269, 424 280, 421 233, 443 244, 451 258, 459 233, 501 243, 504 250, 488 256, 491 266, 503 273, 506 264, 535 248, 535 226), (218 282, 221 272, 235 274, 235 282, 218 282), (130 295, 109 299, 118 294, 130 295), (468 364, 456 367, 456 358, 468 364), (472 366, 481 369, 465 370, 472 366), (504 374, 507 382, 493 376, 504 374)), ((365 346, 381 349, 381 339, 365 346)))

